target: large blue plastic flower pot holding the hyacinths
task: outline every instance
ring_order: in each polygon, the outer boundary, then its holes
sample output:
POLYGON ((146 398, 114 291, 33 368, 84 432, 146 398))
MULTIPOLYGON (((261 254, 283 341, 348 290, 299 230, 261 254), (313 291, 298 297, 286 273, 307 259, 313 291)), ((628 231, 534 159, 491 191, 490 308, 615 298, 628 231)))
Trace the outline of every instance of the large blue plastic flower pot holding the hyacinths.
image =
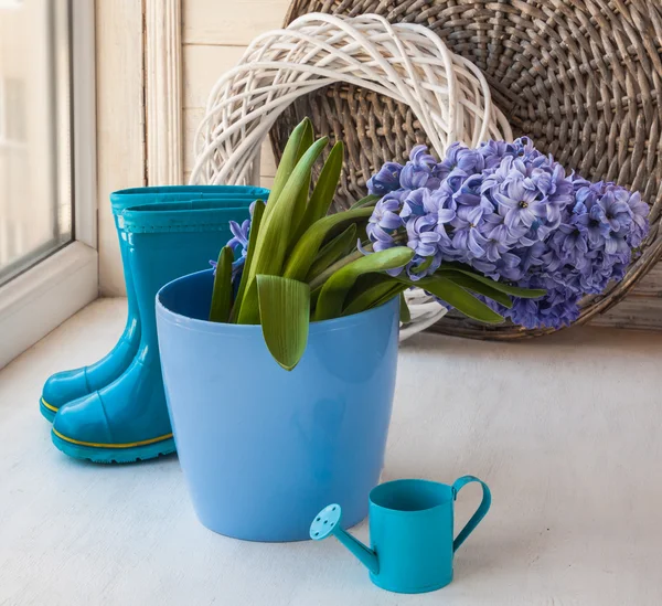
POLYGON ((314 322, 282 370, 261 327, 206 320, 212 270, 157 295, 166 396, 201 522, 249 541, 308 539, 329 502, 367 514, 384 464, 397 369, 398 300, 314 322))

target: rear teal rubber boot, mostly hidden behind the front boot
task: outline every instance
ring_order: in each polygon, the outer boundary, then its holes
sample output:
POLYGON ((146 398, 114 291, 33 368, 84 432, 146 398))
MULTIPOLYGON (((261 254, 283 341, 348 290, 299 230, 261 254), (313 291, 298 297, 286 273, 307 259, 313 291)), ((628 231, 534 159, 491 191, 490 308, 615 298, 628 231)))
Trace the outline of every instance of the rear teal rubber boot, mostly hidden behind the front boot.
POLYGON ((40 398, 42 415, 53 422, 55 413, 67 402, 105 387, 115 381, 134 361, 140 343, 140 316, 129 270, 127 235, 119 216, 129 206, 163 204, 194 199, 236 201, 237 206, 248 205, 257 199, 266 200, 268 190, 244 185, 173 185, 163 188, 132 188, 110 194, 115 226, 124 266, 128 298, 128 318, 119 341, 113 350, 89 366, 53 374, 46 381, 40 398))

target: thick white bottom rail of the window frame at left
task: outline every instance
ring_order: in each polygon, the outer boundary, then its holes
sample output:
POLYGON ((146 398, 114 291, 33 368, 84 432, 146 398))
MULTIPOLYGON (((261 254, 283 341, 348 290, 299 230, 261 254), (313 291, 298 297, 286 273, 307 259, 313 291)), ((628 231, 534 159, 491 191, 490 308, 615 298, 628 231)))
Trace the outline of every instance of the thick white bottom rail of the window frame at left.
POLYGON ((0 287, 0 369, 97 296, 97 252, 82 242, 0 287))

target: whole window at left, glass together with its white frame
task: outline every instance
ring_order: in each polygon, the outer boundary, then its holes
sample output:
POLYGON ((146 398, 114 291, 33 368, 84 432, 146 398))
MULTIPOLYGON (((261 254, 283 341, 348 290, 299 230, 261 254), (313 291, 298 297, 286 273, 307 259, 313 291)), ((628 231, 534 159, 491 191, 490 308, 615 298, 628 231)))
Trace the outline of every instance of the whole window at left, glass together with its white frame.
POLYGON ((0 368, 97 293, 94 2, 0 0, 0 368))

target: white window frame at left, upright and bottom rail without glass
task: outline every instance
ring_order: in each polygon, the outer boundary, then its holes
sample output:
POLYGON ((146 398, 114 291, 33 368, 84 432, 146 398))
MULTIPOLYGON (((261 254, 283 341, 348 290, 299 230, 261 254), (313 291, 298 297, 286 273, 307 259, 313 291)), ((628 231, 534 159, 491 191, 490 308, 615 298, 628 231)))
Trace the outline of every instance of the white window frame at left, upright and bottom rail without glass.
POLYGON ((0 287, 0 369, 98 297, 95 2, 71 2, 74 241, 0 287))

